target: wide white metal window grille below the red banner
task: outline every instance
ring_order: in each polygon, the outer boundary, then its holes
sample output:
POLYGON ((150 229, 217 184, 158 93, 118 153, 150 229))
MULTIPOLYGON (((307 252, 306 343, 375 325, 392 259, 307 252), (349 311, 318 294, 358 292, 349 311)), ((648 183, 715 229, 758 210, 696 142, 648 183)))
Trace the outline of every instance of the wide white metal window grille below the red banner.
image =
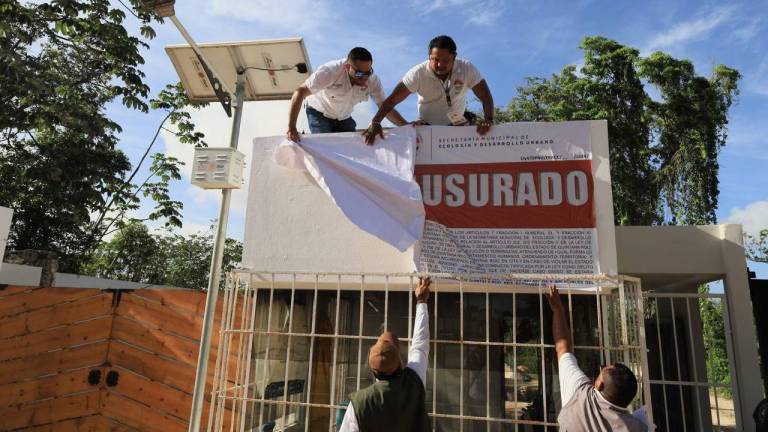
MULTIPOLYGON (((426 399, 435 430, 557 430, 560 390, 543 295, 553 280, 567 296, 582 369, 594 376, 603 364, 625 363, 641 385, 633 406, 649 400, 637 279, 432 277, 426 399)), ((349 394, 372 382, 367 351, 381 331, 398 334, 407 350, 415 282, 414 274, 230 274, 208 430, 336 430, 349 394)))

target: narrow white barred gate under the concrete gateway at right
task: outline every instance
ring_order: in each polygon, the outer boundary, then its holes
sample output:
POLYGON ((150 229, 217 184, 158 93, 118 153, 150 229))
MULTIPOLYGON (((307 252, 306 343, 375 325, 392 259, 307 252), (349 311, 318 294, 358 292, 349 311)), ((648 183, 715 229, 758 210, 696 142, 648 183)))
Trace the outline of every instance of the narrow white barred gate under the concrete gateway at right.
POLYGON ((658 430, 740 430, 725 294, 652 292, 643 296, 658 430))

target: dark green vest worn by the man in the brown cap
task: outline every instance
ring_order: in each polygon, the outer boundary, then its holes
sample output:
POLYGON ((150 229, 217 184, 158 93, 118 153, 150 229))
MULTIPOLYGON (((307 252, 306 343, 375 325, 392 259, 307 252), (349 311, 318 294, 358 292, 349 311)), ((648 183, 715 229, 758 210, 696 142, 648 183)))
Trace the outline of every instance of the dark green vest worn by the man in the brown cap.
POLYGON ((411 368, 350 396, 361 431, 429 431, 424 385, 411 368))

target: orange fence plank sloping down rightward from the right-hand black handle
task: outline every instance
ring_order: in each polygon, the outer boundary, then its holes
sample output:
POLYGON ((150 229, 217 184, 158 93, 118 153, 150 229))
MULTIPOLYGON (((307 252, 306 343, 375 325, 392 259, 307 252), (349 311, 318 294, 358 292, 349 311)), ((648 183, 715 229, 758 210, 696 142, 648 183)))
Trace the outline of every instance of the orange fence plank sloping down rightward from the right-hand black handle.
POLYGON ((117 385, 111 392, 133 400, 141 401, 155 411, 186 421, 192 408, 192 396, 159 381, 137 375, 122 368, 113 368, 120 373, 117 385))

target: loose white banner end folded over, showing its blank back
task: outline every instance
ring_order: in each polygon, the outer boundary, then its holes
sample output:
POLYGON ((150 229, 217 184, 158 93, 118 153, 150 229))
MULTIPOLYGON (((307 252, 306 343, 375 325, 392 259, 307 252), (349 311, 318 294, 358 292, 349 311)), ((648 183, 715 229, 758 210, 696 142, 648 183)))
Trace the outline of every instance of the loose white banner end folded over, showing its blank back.
POLYGON ((375 146, 358 134, 310 135, 299 144, 283 140, 275 162, 308 171, 352 223, 403 252, 421 239, 424 227, 415 154, 416 130, 404 126, 375 146))

